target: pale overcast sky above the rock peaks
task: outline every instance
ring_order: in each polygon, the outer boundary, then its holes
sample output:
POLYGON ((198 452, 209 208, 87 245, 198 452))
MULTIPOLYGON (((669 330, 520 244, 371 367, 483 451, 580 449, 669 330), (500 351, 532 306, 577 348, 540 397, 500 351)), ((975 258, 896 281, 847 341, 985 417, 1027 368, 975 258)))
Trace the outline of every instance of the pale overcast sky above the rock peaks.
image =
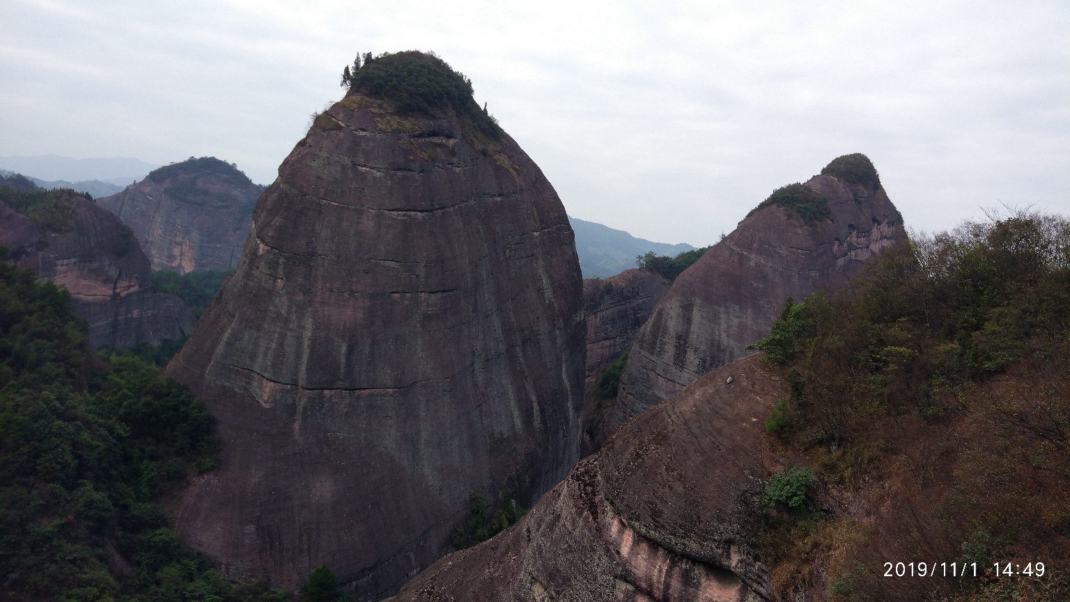
POLYGON ((569 214, 705 245, 841 154, 906 225, 1070 214, 1070 2, 3 0, 0 155, 270 184, 356 52, 433 50, 569 214))

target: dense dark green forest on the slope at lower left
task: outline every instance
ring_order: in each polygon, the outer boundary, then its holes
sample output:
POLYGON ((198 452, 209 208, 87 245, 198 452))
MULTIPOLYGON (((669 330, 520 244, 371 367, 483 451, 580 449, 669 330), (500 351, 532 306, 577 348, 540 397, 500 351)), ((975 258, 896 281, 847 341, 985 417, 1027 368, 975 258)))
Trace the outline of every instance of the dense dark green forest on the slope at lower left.
POLYGON ((288 600, 185 548, 159 502, 217 463, 189 390, 94 353, 70 295, 0 260, 0 598, 288 600))

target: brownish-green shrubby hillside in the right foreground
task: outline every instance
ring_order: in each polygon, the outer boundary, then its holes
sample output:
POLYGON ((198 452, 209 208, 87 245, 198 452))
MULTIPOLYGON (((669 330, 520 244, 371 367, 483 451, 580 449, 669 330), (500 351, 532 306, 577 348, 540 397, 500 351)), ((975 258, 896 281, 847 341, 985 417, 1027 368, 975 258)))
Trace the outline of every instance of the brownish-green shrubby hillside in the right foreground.
POLYGON ((916 237, 834 299, 789 300, 758 347, 791 383, 766 430, 813 475, 754 526, 778 595, 1070 597, 1070 222, 1019 212, 916 237), (888 578, 888 560, 980 576, 888 578))

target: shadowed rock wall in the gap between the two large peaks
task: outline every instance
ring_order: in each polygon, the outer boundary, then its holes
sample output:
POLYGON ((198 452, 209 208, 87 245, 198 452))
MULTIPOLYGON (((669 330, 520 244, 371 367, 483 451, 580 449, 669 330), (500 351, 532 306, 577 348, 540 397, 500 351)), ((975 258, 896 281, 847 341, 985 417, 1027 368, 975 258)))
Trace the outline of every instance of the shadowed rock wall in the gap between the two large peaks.
POLYGON ((640 327, 669 290, 664 276, 632 268, 605 279, 583 281, 583 311, 587 319, 587 362, 584 381, 581 456, 590 455, 606 440, 601 433, 605 402, 594 390, 595 382, 621 353, 631 347, 640 327))

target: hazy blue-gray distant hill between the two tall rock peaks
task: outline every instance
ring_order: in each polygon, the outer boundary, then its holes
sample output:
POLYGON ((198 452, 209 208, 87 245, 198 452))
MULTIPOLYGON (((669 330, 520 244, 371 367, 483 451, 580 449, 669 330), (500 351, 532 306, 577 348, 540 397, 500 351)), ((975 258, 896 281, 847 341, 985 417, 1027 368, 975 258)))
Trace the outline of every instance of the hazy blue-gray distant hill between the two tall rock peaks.
POLYGON ((681 242, 668 244, 636 238, 624 230, 568 217, 576 232, 576 253, 580 256, 580 270, 585 279, 608 279, 628 268, 636 267, 636 256, 653 251, 656 255, 675 257, 694 249, 681 242))

